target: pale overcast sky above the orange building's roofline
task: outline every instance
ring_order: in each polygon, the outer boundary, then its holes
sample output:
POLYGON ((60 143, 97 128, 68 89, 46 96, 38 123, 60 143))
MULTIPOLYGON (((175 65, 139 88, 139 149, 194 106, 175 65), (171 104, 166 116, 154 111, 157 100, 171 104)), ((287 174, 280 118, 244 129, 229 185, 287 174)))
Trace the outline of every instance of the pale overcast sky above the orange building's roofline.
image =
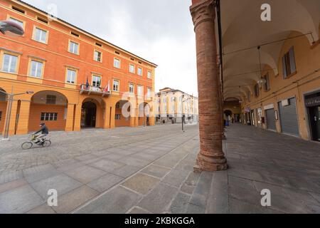
POLYGON ((198 94, 189 0, 25 0, 156 63, 156 90, 198 94))

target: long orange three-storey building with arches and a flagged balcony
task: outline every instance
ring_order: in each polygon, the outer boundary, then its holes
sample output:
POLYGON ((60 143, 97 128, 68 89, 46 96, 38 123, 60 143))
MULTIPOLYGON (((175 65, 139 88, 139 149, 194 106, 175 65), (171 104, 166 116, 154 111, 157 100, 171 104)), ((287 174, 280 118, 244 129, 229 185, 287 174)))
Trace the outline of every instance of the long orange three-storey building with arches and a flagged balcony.
MULTIPOLYGON (((37 130, 41 122, 66 131, 154 125, 156 64, 22 1, 0 0, 5 20, 21 24, 25 34, 0 33, 0 90, 34 91, 14 97, 10 135, 37 130)), ((0 93, 0 133, 7 100, 0 93)))

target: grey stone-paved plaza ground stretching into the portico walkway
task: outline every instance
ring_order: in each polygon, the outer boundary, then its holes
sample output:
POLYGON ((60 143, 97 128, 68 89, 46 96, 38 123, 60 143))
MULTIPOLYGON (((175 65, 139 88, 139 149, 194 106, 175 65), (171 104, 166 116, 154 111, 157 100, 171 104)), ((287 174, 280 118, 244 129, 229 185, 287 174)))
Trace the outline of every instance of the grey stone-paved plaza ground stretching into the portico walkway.
POLYGON ((27 135, 0 141, 0 213, 320 213, 318 143, 245 125, 226 134, 230 169, 201 174, 197 125, 56 132, 27 151, 27 135))

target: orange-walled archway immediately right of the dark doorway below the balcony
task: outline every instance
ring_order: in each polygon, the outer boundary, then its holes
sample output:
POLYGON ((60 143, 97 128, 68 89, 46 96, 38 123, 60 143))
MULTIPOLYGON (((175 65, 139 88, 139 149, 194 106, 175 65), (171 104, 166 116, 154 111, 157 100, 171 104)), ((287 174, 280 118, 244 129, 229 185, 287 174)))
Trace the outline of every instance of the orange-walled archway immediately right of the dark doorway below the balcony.
POLYGON ((129 127, 131 120, 131 103, 128 100, 119 100, 115 105, 114 125, 118 127, 129 127))

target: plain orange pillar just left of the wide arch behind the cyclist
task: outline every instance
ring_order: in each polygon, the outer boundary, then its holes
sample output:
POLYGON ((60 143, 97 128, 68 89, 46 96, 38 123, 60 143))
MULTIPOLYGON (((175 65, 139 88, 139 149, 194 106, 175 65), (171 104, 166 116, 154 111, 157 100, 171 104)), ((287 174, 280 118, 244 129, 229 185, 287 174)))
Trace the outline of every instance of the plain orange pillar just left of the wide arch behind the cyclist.
MULTIPOLYGON (((19 119, 18 119, 18 128, 16 129, 17 135, 28 134, 30 107, 31 107, 30 100, 21 100, 19 119)), ((40 123, 40 120, 39 120, 39 123, 40 123)))

